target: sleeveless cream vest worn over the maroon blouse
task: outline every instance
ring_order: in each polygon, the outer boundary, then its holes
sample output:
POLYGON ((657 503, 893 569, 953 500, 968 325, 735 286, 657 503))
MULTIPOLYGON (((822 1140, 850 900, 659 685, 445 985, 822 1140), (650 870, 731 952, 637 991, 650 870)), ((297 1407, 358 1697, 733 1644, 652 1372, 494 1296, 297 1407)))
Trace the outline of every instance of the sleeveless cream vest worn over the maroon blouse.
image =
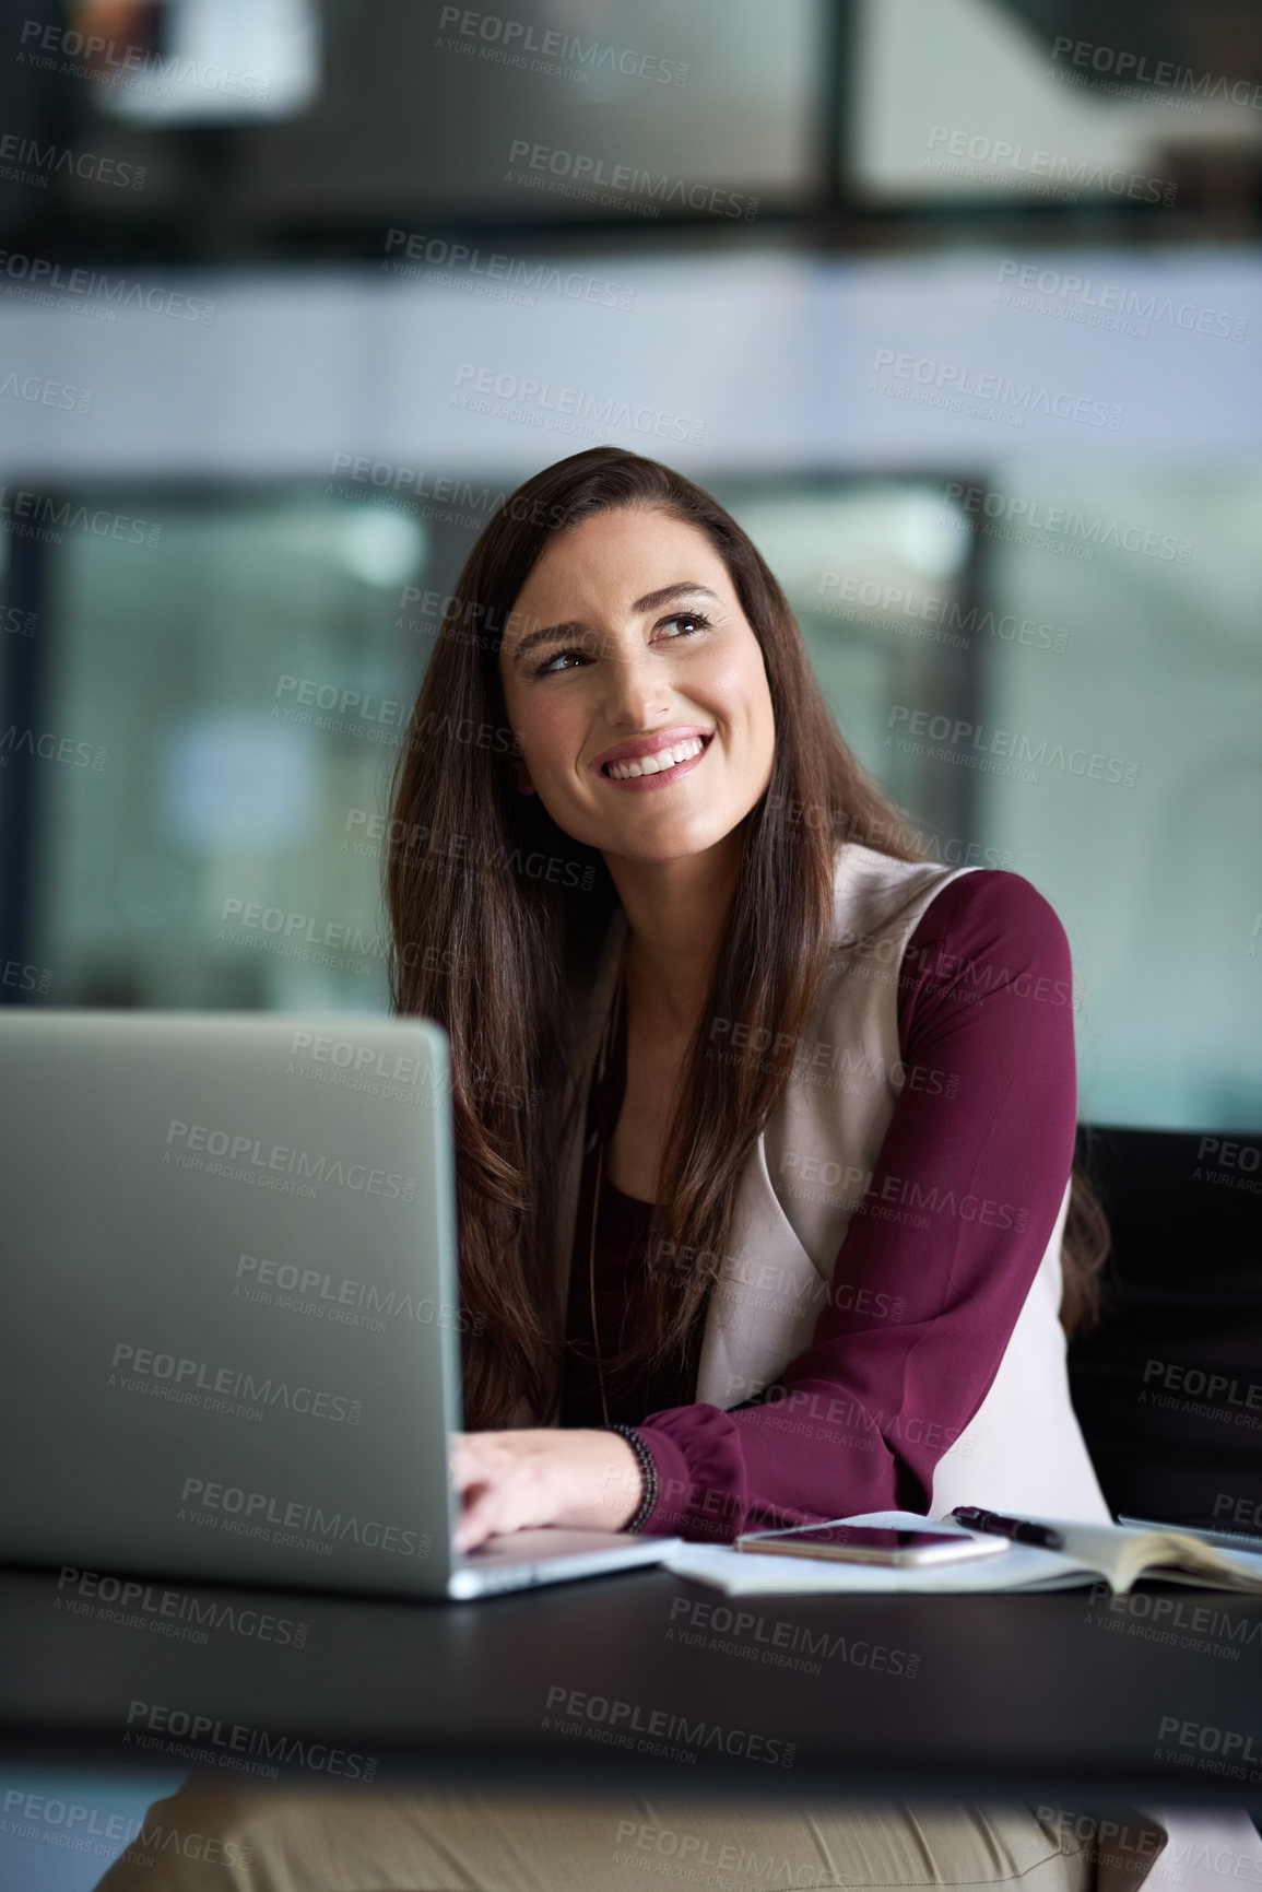
MULTIPOLYGON (((819 993, 789 1088, 745 1164, 732 1239, 706 1317, 696 1400, 723 1410, 770 1385, 812 1340, 833 1283, 836 1251, 904 1082, 944 1073, 906 1071, 899 1052, 897 974, 920 918, 969 867, 895 861, 848 844, 834 874, 834 940, 855 954, 819 993)), ((626 914, 619 906, 575 1031, 583 1109, 566 1152, 560 1203, 562 1290, 573 1249, 581 1126, 609 1016, 626 914)), ((719 1056, 749 1056, 740 1024, 721 1031, 719 1056)), ((755 1046, 757 1050, 757 1046, 755 1046)), ((1037 1135, 1031 1124, 1031 1135, 1037 1135)), ((1109 1508, 1069 1402, 1060 1324, 1061 1232, 1069 1179, 1039 1273, 978 1411, 935 1468, 929 1517, 955 1504, 1097 1519, 1109 1508)))

